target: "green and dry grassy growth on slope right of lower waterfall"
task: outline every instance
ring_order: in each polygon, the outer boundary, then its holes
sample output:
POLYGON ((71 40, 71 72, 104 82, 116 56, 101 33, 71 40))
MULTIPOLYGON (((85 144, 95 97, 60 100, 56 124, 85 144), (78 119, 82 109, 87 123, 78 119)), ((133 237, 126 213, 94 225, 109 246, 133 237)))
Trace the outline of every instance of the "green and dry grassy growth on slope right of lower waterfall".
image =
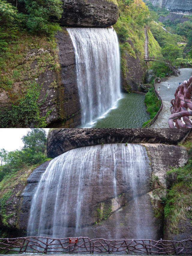
POLYGON ((188 218, 192 224, 192 212, 187 211, 192 202, 192 140, 188 137, 182 146, 188 150, 190 159, 183 167, 173 168, 167 175, 173 179, 173 185, 168 190, 165 200, 164 217, 168 220, 168 230, 170 233, 177 234, 179 222, 188 218))

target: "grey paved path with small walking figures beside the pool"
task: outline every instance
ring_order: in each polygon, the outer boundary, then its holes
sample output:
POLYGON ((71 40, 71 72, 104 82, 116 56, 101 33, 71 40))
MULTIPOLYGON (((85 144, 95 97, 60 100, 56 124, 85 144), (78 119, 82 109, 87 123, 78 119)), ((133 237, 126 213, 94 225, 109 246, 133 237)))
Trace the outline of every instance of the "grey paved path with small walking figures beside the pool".
POLYGON ((176 77, 173 75, 171 77, 168 77, 167 81, 155 84, 156 90, 158 89, 158 87, 160 87, 161 89, 159 92, 159 95, 161 96, 163 101, 163 110, 161 111, 161 113, 158 116, 158 119, 151 126, 151 128, 169 128, 168 118, 171 114, 170 102, 173 98, 175 98, 174 94, 177 87, 179 86, 179 82, 182 83, 184 80, 188 80, 189 77, 191 76, 192 76, 192 68, 182 68, 179 77, 176 77), (170 84, 169 91, 167 90, 168 83, 170 84))

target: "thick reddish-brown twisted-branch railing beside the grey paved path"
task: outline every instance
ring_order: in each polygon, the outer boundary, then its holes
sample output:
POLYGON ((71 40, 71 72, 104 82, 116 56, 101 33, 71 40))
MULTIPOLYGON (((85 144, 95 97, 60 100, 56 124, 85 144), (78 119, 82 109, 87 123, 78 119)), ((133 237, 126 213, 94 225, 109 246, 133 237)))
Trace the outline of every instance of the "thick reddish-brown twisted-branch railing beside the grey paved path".
POLYGON ((170 128, 192 128, 192 77, 178 86, 175 98, 171 100, 171 115, 169 117, 170 128), (181 120, 183 118, 183 121, 181 120), (175 122, 175 125, 174 125, 175 122))

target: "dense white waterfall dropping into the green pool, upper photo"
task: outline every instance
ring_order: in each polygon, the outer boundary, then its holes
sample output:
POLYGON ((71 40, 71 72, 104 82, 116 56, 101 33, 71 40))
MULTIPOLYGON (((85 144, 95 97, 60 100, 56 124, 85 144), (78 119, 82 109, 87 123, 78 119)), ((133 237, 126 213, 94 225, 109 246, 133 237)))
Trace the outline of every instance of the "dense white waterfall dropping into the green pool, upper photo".
POLYGON ((101 28, 67 28, 73 42, 81 125, 90 127, 121 98, 120 55, 116 32, 101 28))

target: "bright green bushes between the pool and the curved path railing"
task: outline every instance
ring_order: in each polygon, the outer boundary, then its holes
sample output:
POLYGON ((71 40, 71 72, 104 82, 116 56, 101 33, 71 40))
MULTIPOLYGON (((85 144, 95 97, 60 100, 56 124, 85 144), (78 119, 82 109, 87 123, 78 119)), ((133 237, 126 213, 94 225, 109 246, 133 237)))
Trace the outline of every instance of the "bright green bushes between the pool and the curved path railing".
POLYGON ((147 106, 147 112, 149 112, 151 119, 147 122, 144 122, 143 126, 151 122, 151 120, 156 116, 161 107, 161 101, 155 95, 153 88, 149 89, 149 91, 146 93, 144 102, 147 106))

